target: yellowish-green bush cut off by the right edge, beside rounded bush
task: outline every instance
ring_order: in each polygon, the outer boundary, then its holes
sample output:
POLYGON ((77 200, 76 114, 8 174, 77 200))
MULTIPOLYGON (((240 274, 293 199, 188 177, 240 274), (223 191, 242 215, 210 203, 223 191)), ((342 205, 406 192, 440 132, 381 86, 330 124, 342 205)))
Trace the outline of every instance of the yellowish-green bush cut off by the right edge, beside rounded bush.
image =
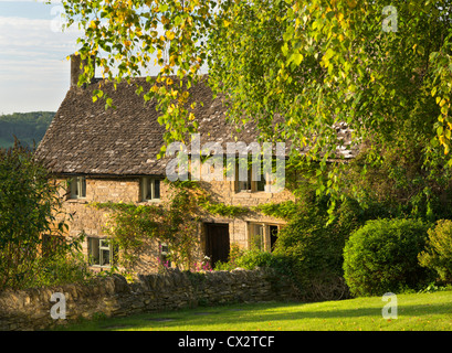
POLYGON ((440 220, 429 229, 427 248, 419 254, 419 263, 434 270, 440 280, 452 284, 452 221, 440 220))

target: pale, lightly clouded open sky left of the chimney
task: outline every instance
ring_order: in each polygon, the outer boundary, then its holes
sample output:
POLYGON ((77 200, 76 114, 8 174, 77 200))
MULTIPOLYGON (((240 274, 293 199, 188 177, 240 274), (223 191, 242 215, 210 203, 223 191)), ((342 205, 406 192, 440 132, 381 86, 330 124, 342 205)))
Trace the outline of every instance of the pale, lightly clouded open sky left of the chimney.
POLYGON ((61 30, 62 12, 55 0, 0 0, 0 115, 57 110, 82 35, 61 30))

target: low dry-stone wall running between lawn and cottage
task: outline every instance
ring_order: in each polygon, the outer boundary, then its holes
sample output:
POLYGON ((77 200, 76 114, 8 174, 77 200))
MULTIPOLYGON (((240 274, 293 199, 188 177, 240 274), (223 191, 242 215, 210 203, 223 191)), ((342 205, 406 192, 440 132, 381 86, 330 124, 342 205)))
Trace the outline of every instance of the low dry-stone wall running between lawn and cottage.
POLYGON ((228 302, 287 301, 296 297, 296 288, 288 279, 266 269, 206 274, 168 270, 138 276, 133 284, 114 275, 96 278, 90 285, 2 291, 0 330, 46 330, 99 314, 125 317, 228 302), (59 298, 51 300, 53 293, 64 295, 65 319, 51 317, 52 307, 62 303, 59 298))

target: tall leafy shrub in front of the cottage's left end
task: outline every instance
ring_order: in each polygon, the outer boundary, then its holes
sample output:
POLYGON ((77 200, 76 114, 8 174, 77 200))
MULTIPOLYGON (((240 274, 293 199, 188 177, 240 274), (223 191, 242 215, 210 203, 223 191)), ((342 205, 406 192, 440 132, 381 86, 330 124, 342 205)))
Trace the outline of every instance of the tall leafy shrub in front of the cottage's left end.
POLYGON ((75 270, 80 240, 63 236, 61 202, 59 184, 31 150, 19 143, 0 150, 0 289, 84 277, 75 270))

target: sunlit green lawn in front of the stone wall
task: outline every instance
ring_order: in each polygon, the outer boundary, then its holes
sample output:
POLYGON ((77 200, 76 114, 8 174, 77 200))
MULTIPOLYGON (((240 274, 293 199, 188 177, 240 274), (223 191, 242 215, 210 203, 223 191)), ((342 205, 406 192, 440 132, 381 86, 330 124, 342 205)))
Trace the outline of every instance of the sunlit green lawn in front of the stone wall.
POLYGON ((397 296, 383 319, 381 297, 316 303, 248 303, 143 313, 70 324, 71 331, 452 331, 452 291, 397 296))

